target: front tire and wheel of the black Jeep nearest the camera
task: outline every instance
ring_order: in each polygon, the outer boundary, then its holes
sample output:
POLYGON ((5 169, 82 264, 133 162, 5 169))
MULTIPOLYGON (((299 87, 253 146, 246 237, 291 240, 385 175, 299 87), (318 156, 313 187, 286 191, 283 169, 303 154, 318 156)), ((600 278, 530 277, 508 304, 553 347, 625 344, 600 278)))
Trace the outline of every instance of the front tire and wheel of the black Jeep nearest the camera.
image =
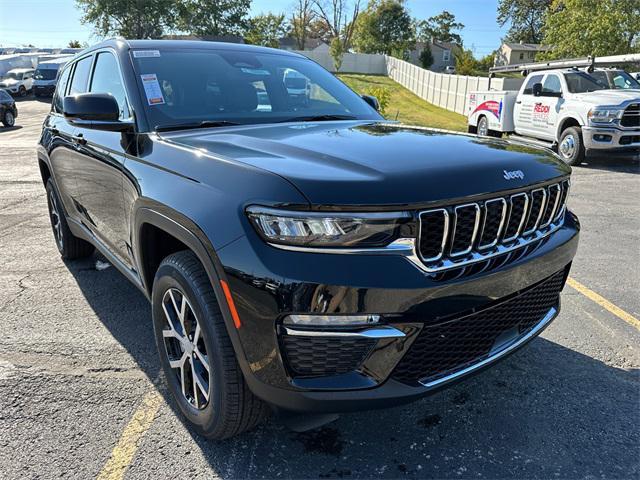
POLYGON ((209 277, 193 252, 174 253, 160 264, 152 314, 169 390, 200 435, 222 440, 266 417, 269 409, 244 380, 209 277))

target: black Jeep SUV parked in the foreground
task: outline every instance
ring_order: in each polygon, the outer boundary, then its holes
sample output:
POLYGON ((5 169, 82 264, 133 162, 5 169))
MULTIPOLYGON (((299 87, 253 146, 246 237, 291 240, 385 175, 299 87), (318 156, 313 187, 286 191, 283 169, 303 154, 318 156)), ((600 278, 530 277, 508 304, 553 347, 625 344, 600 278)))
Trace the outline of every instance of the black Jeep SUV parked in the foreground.
POLYGON ((109 40, 61 72, 38 148, 56 244, 150 299, 202 434, 417 399, 558 314, 570 168, 375 106, 243 45, 109 40))

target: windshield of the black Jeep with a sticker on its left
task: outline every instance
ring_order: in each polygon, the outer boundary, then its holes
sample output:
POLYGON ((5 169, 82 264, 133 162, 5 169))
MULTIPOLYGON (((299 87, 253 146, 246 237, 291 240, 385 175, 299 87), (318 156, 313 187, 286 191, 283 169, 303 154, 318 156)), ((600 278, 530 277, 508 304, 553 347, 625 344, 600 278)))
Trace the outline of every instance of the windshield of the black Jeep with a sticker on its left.
POLYGON ((332 116, 382 119, 346 85, 306 58, 249 50, 168 49, 137 50, 132 59, 153 128, 332 116), (291 91, 298 88, 305 93, 291 91))

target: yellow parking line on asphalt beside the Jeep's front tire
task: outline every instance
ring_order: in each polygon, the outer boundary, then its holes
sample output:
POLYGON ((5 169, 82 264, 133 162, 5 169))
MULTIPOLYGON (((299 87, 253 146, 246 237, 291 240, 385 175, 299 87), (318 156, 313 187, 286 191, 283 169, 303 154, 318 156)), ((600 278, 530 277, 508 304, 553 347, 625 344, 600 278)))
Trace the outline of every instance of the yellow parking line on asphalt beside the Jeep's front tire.
POLYGON ((140 440, 151 427, 161 403, 162 396, 158 392, 149 392, 144 396, 111 452, 111 458, 98 474, 98 480, 120 480, 124 477, 140 446, 140 440))

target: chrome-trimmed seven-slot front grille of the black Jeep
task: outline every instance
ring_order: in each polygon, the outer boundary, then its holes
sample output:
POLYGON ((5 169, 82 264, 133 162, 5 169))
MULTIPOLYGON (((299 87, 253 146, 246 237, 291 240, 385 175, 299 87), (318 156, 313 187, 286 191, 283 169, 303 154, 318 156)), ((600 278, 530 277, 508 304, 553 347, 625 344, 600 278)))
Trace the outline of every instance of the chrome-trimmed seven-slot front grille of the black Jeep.
POLYGON ((569 180, 420 214, 419 254, 428 271, 459 267, 523 247, 558 228, 569 180))

